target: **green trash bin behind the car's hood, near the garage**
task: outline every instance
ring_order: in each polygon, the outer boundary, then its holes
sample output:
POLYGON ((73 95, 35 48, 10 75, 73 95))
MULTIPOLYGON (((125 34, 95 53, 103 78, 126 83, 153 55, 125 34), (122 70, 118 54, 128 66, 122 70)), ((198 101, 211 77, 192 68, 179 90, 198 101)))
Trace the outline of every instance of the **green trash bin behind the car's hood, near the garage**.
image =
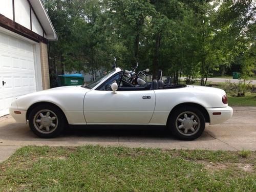
POLYGON ((83 84, 83 75, 82 74, 64 74, 58 75, 60 78, 61 86, 79 86, 83 84))

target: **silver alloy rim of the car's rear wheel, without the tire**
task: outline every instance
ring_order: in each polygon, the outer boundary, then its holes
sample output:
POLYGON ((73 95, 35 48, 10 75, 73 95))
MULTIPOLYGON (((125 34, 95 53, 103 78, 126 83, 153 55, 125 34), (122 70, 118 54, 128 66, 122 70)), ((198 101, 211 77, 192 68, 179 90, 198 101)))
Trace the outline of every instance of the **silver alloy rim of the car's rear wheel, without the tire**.
POLYGON ((194 112, 190 111, 179 114, 175 124, 178 132, 185 136, 195 135, 200 129, 199 117, 194 112))

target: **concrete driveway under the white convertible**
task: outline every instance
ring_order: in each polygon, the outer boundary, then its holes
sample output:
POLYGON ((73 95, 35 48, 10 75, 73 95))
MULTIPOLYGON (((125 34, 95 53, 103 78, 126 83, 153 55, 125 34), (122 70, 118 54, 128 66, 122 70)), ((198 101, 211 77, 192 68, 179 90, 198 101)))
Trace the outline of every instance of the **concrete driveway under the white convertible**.
POLYGON ((27 124, 15 123, 10 116, 0 118, 0 161, 25 145, 78 146, 84 144, 159 147, 165 149, 251 150, 256 151, 256 107, 233 107, 232 119, 217 125, 206 125, 203 135, 194 141, 179 141, 160 127, 132 130, 73 129, 54 139, 40 139, 27 124))

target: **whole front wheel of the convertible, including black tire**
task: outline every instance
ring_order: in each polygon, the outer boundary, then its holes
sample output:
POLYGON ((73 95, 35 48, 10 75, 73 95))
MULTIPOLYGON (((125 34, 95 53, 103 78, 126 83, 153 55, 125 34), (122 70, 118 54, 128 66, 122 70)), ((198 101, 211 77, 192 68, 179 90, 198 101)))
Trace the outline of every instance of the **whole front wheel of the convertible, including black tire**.
POLYGON ((51 104, 38 105, 29 114, 29 127, 40 138, 59 136, 65 125, 65 115, 59 108, 51 104))

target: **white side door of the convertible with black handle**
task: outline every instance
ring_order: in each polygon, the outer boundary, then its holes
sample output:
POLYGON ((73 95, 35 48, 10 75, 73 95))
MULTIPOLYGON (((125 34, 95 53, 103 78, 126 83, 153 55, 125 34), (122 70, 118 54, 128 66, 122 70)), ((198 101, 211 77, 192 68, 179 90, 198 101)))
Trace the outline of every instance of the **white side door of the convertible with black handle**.
POLYGON ((155 92, 89 91, 84 97, 84 117, 88 124, 146 124, 155 108, 155 92))

